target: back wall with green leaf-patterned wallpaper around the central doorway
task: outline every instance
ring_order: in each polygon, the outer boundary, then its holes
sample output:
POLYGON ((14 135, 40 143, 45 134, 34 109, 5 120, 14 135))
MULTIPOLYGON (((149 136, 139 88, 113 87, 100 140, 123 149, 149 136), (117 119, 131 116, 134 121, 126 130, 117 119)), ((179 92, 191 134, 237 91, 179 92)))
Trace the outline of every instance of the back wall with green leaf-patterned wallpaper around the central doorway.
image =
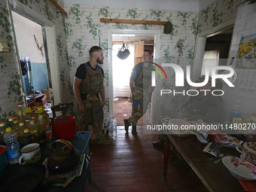
MULTIPOLYGON (((69 14, 66 19, 66 35, 69 50, 69 58, 72 63, 71 76, 73 79, 76 69, 81 63, 87 62, 89 58, 88 50, 94 45, 99 45, 103 49, 108 46, 108 29, 135 29, 135 30, 160 30, 160 58, 167 63, 177 62, 178 47, 177 42, 181 39, 181 60, 183 63, 193 62, 194 43, 197 35, 197 13, 196 12, 181 12, 167 10, 151 10, 151 9, 130 9, 130 8, 111 8, 104 6, 92 5, 69 5, 65 4, 65 11, 69 14), (126 20, 169 20, 172 25, 172 33, 164 34, 164 26, 160 25, 141 25, 132 23, 100 23, 100 18, 115 18, 126 20)), ((109 114, 109 93, 108 93, 108 50, 103 51, 105 59, 102 68, 105 73, 105 115, 109 114)), ((158 62, 160 62, 158 60, 158 62)), ((163 62, 161 62, 163 63, 163 62)), ((130 72, 129 72, 130 73, 130 72)), ((159 89, 170 89, 173 87, 174 71, 166 68, 166 73, 169 76, 166 84, 163 84, 161 78, 159 81, 161 86, 159 89)), ((154 91, 160 93, 160 90, 154 91)), ((169 114, 173 108, 181 107, 178 105, 177 99, 181 97, 161 98, 155 101, 161 113, 169 114), (157 103, 159 101, 165 103, 157 103), (171 107, 170 107, 171 106, 171 107)))

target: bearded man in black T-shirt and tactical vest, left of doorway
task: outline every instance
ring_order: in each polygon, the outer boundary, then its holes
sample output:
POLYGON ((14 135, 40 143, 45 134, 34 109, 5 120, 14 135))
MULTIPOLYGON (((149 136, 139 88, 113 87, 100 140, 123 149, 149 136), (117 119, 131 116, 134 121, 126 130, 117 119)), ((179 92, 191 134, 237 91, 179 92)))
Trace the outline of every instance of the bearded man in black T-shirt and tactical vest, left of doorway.
POLYGON ((79 104, 78 126, 80 130, 88 130, 92 121, 93 130, 98 144, 111 144, 102 134, 103 107, 105 105, 104 72, 97 65, 103 64, 102 48, 90 48, 90 61, 81 64, 75 73, 73 90, 79 104), (101 101, 102 100, 102 101, 101 101))

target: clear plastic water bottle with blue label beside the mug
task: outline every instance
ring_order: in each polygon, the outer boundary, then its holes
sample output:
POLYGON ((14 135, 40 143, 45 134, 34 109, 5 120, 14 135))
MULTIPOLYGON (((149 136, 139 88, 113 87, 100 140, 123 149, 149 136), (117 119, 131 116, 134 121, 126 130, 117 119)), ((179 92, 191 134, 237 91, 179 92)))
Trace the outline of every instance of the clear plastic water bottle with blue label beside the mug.
POLYGON ((8 154, 9 163, 18 163, 20 158, 20 144, 19 142, 17 142, 17 134, 11 130, 11 127, 8 127, 6 129, 4 140, 6 144, 6 151, 8 154))

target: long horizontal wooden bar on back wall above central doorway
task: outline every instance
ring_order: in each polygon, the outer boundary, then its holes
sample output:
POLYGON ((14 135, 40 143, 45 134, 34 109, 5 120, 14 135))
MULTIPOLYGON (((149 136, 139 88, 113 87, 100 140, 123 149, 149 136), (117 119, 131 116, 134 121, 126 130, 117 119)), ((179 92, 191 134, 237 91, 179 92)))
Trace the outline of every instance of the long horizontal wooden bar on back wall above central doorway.
POLYGON ((100 18, 100 22, 152 24, 152 25, 163 25, 163 26, 165 26, 167 23, 167 21, 156 21, 156 20, 120 20, 120 19, 106 19, 106 18, 100 18))

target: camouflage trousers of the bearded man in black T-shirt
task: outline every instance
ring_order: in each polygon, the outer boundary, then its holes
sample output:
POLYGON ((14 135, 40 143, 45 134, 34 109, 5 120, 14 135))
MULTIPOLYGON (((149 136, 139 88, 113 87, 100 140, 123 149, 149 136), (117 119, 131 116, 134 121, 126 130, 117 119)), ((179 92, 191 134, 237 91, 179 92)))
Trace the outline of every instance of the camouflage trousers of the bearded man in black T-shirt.
POLYGON ((99 98, 95 95, 87 95, 87 100, 83 100, 83 103, 87 111, 78 112, 80 130, 89 130, 89 124, 92 122, 96 139, 105 139, 105 134, 102 134, 103 110, 99 98))

